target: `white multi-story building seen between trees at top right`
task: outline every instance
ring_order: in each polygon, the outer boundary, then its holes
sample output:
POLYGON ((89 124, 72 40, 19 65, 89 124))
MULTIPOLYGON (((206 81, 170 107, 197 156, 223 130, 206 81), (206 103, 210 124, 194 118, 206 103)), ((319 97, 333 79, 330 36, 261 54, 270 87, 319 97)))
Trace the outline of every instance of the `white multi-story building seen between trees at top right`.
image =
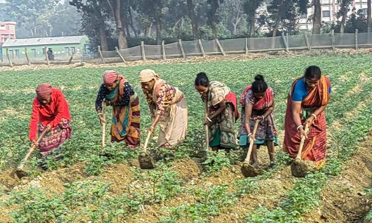
MULTIPOLYGON (((311 0, 310 0, 311 2, 311 0)), ((321 21, 333 22, 337 21, 336 13, 340 10, 341 6, 337 3, 337 0, 320 0, 321 3, 321 21)), ((353 13, 352 9, 356 11, 363 9, 363 13, 367 16, 367 0, 353 0, 353 4, 350 5, 350 13, 353 13)), ((312 22, 308 22, 309 15, 314 13, 314 7, 308 9, 308 14, 303 14, 300 17, 300 29, 312 29, 312 22)), ((341 18, 339 19, 341 20, 341 18)))

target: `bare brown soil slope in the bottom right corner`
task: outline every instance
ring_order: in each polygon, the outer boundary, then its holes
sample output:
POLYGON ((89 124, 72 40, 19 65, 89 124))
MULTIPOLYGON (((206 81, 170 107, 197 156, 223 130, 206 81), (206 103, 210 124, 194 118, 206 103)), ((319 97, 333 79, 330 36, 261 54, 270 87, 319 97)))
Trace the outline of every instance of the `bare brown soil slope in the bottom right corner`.
MULTIPOLYGON (((370 136, 371 137, 371 136, 370 136)), ((372 139, 360 144, 360 150, 345 165, 341 176, 332 177, 323 191, 322 202, 304 216, 304 223, 365 223, 371 208, 372 139)))

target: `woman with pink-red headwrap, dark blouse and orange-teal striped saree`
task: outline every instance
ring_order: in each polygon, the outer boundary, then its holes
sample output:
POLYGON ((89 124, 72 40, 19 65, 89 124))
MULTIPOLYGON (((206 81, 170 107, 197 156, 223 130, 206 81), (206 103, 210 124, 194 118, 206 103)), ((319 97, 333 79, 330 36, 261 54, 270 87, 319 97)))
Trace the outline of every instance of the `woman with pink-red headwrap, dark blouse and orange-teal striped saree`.
POLYGON ((118 75, 114 70, 106 70, 102 76, 97 99, 96 111, 101 121, 106 123, 102 115, 102 102, 113 107, 113 119, 111 123, 111 141, 121 142, 125 140, 128 147, 135 148, 139 145, 140 111, 139 99, 128 81, 118 75))

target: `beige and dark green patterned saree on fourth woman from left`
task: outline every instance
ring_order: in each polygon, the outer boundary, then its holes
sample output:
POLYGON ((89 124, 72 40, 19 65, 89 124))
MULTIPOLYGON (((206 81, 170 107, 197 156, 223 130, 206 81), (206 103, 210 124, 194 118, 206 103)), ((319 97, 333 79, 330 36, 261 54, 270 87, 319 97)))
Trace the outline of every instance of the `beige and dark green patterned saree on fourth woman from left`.
POLYGON ((220 102, 231 102, 226 105, 226 109, 221 114, 212 119, 208 128, 209 146, 221 146, 227 149, 236 148, 234 118, 236 121, 240 117, 236 95, 224 83, 211 81, 206 99, 210 103, 209 114, 217 110, 220 102))

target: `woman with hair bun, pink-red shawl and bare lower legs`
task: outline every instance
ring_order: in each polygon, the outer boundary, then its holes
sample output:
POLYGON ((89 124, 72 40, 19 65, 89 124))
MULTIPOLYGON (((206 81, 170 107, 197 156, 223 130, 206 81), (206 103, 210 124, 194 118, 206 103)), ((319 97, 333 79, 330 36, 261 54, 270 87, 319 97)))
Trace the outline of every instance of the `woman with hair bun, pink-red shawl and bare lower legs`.
POLYGON ((254 82, 244 90, 242 104, 242 124, 239 128, 239 146, 249 147, 250 139, 254 140, 252 147, 253 167, 258 167, 257 147, 267 146, 270 166, 274 166, 274 146, 278 145, 278 132, 275 127, 272 111, 274 110, 274 91, 267 86, 262 75, 254 77, 254 82), (256 120, 260 120, 256 135, 252 131, 256 120))

